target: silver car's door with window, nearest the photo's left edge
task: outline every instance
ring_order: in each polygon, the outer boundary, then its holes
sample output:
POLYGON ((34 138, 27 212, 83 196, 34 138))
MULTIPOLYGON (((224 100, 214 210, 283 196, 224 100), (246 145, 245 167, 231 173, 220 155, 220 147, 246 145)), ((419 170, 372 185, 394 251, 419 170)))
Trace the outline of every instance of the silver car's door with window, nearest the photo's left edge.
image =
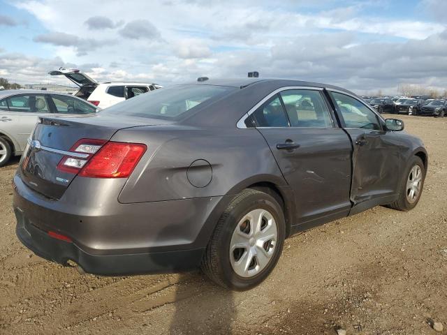
MULTIPOLYGON (((45 94, 17 94, 4 99, 8 112, 1 110, 0 121, 3 131, 15 139, 17 151, 24 150, 38 116, 51 114, 45 94)), ((4 106, 3 106, 4 108, 4 106)))

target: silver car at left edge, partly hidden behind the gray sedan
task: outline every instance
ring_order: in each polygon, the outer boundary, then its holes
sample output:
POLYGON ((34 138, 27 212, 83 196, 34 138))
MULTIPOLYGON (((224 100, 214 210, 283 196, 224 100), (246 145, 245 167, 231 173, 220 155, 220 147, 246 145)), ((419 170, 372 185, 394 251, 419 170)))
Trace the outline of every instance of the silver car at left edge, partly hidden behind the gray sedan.
POLYGON ((81 98, 39 90, 0 91, 0 166, 20 156, 38 116, 91 114, 100 109, 81 98))

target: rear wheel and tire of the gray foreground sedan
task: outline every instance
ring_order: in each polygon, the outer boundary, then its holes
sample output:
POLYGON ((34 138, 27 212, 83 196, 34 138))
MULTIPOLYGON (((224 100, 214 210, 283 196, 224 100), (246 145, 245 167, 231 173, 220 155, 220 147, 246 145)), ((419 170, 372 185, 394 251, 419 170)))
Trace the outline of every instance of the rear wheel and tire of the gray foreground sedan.
POLYGON ((200 267, 223 288, 249 290, 267 278, 277 265, 285 234, 284 213, 277 200, 248 188, 236 195, 223 212, 200 267), (254 227, 256 218, 259 218, 258 230, 254 227), (274 227, 276 238, 272 237, 274 227))

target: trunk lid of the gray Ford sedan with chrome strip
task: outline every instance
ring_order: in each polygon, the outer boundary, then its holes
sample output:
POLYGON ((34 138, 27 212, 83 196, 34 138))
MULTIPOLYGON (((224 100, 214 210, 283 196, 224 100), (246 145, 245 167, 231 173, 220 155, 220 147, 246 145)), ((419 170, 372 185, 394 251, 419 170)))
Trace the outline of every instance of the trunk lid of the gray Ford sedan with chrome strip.
POLYGON ((24 184, 47 198, 59 200, 77 174, 57 165, 81 139, 108 141, 117 131, 138 126, 170 124, 170 121, 94 114, 83 117, 40 117, 28 140, 19 174, 24 184))

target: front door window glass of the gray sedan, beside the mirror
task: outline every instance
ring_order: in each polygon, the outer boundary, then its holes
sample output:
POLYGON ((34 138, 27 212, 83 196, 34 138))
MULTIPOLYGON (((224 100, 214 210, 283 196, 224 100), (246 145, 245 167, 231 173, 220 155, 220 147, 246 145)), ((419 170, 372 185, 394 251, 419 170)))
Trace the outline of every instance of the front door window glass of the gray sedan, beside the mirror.
POLYGON ((346 128, 381 129, 376 114, 360 101, 337 92, 332 92, 332 96, 335 98, 340 112, 342 112, 346 128))

